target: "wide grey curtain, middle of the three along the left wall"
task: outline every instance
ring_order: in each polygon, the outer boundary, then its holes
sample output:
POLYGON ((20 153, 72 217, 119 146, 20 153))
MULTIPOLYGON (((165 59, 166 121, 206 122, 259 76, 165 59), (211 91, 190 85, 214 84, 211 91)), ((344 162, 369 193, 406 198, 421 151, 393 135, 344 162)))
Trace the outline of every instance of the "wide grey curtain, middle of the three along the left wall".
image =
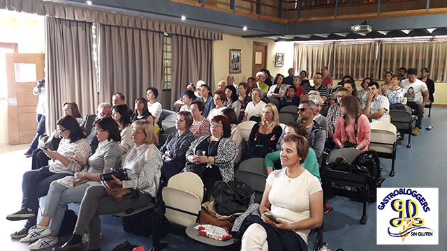
POLYGON ((147 29, 100 25, 99 82, 101 102, 121 92, 133 108, 135 98, 146 97, 154 86, 161 100, 163 33, 147 29))

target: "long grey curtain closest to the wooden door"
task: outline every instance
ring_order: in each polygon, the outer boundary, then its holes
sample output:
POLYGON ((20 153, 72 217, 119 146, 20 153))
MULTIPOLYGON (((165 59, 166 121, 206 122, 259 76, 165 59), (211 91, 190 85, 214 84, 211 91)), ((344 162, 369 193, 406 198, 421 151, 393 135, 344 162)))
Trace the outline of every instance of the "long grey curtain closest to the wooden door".
POLYGON ((45 18, 45 61, 48 86, 47 128, 54 130, 64 102, 76 102, 82 116, 98 105, 91 23, 45 18))

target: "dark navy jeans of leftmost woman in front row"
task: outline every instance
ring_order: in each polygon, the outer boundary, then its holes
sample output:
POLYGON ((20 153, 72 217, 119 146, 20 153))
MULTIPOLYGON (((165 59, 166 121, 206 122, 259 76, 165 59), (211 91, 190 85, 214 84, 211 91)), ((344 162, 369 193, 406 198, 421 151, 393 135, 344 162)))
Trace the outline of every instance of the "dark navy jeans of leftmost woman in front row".
MULTIPOLYGON (((37 215, 39 209, 38 198, 47 195, 52 181, 68 175, 70 174, 53 174, 48 171, 48 167, 25 172, 22 179, 22 207, 31 208, 37 215)), ((34 225, 36 225, 36 218, 27 220, 27 223, 25 223, 27 229, 34 225)))

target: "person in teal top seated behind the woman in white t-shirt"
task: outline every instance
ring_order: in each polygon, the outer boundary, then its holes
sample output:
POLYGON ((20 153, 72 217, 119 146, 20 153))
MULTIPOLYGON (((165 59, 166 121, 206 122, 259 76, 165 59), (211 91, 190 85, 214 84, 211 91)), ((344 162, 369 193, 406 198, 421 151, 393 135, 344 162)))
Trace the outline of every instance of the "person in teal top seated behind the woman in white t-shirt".
MULTIPOLYGON (((287 135, 300 135, 302 137, 307 137, 305 124, 302 122, 292 121, 288 122, 286 128, 284 128, 284 137, 287 135)), ((267 168, 268 174, 273 172, 274 170, 274 162, 278 162, 281 160, 281 149, 278 151, 274 151, 265 155, 265 167, 267 168)), ((309 147, 309 153, 307 153, 307 157, 305 162, 302 163, 302 166, 307 169, 311 174, 314 174, 318 178, 321 183, 320 178, 320 169, 318 167, 318 162, 316 159, 315 151, 309 147)), ((281 168, 284 168, 281 166, 281 168)))

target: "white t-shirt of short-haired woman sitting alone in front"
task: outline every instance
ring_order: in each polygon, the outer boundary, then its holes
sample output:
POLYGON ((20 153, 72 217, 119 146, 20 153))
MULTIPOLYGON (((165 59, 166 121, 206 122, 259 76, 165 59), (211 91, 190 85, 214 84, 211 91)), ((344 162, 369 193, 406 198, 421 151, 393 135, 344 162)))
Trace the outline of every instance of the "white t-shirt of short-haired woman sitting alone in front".
MULTIPOLYGON (((268 200, 272 215, 293 223, 310 218, 309 196, 322 191, 320 181, 307 169, 297 178, 288 178, 286 168, 271 172, 267 178, 270 186, 268 200)), ((307 243, 310 230, 296 230, 307 243)))

